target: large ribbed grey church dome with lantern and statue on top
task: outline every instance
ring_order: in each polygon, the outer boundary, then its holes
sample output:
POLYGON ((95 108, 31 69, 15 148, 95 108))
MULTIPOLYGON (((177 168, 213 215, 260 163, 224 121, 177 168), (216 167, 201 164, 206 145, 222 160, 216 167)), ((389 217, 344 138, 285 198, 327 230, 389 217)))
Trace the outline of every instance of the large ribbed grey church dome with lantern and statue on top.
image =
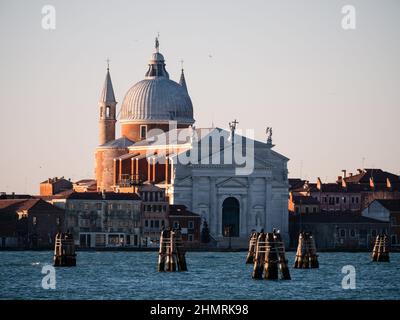
POLYGON ((145 79, 136 83, 125 95, 120 120, 194 123, 193 105, 186 83, 179 84, 169 79, 164 56, 158 52, 158 42, 156 52, 150 57, 145 79))

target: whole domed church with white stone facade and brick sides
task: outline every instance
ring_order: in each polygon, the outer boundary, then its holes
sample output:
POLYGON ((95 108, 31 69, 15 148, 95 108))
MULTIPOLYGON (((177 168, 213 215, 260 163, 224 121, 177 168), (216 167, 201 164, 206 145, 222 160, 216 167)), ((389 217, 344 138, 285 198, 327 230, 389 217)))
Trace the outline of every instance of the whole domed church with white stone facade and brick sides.
POLYGON ((200 214, 222 244, 246 245, 261 229, 288 239, 289 159, 272 150, 272 130, 261 142, 241 134, 236 121, 228 130, 196 128, 183 69, 179 82, 169 79, 158 40, 145 79, 122 102, 118 139, 116 105, 107 68, 95 153, 99 191, 161 187, 171 204, 200 214))

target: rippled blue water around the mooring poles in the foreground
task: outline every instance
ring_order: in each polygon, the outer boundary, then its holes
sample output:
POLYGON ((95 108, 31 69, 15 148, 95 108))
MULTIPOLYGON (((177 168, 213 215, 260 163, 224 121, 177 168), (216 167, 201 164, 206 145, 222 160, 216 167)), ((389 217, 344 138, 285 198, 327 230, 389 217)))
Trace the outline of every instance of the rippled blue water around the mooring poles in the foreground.
MULTIPOLYGON (((78 252, 77 267, 56 269, 56 289, 41 287, 52 252, 0 252, 1 299, 400 299, 400 254, 372 263, 369 253, 321 253, 320 269, 291 268, 292 280, 251 278, 246 253, 188 252, 188 272, 159 273, 156 252, 78 252), (344 265, 356 289, 344 290, 344 265)), ((287 253, 290 265, 294 253, 287 253)))

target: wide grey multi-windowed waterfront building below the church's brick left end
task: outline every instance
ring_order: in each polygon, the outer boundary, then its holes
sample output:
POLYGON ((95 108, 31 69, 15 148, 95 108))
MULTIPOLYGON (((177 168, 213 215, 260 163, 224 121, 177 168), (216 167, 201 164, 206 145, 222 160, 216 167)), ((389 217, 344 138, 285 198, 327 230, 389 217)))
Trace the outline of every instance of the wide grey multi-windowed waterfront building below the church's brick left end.
POLYGON ((65 208, 64 229, 81 248, 140 245, 141 199, 135 193, 73 192, 49 201, 65 208))

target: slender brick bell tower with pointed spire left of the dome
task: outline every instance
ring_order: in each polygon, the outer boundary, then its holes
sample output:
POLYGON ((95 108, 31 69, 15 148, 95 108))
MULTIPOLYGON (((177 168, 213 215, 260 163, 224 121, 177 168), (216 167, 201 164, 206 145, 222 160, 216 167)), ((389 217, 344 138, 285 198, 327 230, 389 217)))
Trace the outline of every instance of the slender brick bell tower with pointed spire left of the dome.
POLYGON ((99 100, 99 145, 115 140, 116 106, 117 101, 115 101, 111 82, 109 60, 107 60, 107 74, 99 100))

